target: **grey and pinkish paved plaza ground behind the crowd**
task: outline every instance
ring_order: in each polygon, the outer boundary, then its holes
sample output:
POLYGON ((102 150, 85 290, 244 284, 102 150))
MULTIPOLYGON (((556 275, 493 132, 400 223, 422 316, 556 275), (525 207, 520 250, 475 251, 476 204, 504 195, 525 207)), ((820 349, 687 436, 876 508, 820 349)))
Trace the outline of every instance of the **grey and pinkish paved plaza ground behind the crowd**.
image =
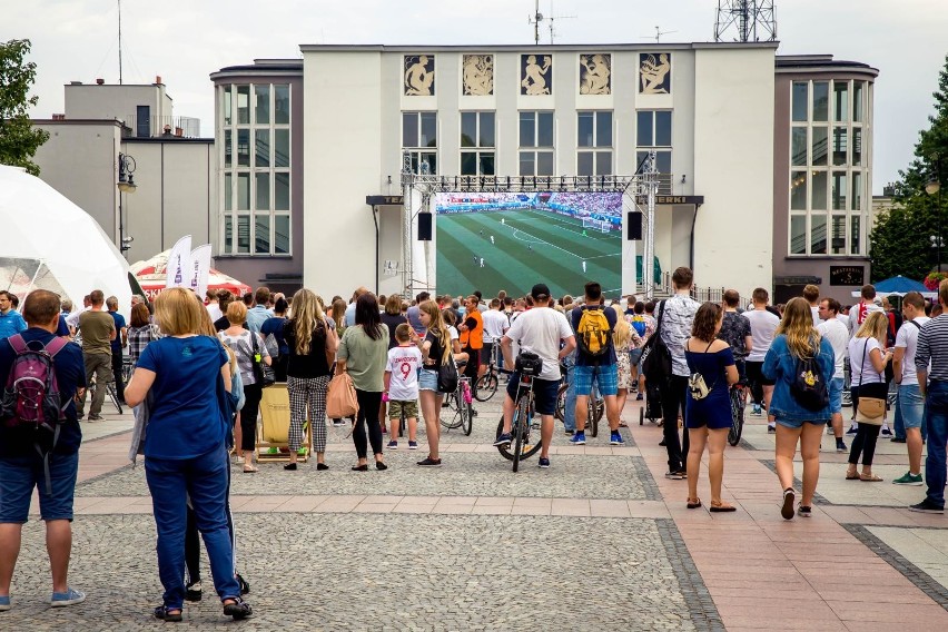
MULTIPOLYGON (((883 483, 843 480, 823 442, 812 520, 780 517, 773 438, 751 419, 728 448, 734 514, 687 510, 669 481, 661 429, 623 412, 626 445, 608 433, 567 445, 552 467, 511 472, 490 445, 500 395, 476 403, 470 437, 442 434, 444 467, 386 452, 389 470, 350 472, 348 427, 329 427, 326 462, 257 474, 234 467, 237 561, 255 614, 205 599, 182 626, 245 630, 936 630, 948 624, 948 519, 903 507, 922 490, 892 485, 905 446, 880 442, 883 483)), ((108 406, 83 423, 70 584, 86 603, 51 610, 42 530, 31 520, 0 630, 138 630, 164 623, 155 523, 144 467, 128 465, 131 415, 108 406)), ((423 424, 421 424, 423 426, 423 424)), ((386 437, 387 441, 387 437, 386 437)), ((798 464, 798 475, 800 466, 798 464)), ((708 496, 707 477, 699 486, 708 496)), ((33 507, 36 513, 36 502, 33 507)), ((33 516, 38 519, 38 516, 33 516)), ((206 560, 205 560, 206 564, 206 560)))

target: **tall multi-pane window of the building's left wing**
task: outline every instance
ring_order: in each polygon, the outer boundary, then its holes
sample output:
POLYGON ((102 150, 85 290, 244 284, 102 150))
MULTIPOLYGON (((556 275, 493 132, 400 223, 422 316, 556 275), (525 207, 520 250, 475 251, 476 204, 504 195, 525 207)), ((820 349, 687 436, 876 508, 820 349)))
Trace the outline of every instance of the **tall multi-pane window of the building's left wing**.
POLYGON ((290 134, 287 83, 224 86, 224 255, 290 254, 290 134), (236 112, 236 116, 233 113, 236 112))

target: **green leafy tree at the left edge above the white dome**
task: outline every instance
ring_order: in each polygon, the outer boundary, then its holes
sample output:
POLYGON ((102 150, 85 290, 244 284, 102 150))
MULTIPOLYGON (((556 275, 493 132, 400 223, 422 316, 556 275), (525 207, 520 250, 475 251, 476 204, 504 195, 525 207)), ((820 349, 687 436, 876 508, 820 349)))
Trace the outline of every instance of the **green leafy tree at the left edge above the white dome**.
POLYGON ((49 132, 33 129, 27 112, 39 102, 39 97, 29 96, 37 65, 23 61, 30 46, 30 40, 0 42, 0 165, 24 167, 38 176, 39 166, 32 157, 49 139, 49 132))

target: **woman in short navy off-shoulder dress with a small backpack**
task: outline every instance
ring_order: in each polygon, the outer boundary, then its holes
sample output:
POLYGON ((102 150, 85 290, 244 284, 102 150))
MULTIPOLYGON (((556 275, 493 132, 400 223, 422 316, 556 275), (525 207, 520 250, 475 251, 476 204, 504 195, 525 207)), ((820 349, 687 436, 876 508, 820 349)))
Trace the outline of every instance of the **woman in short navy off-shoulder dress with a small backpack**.
POLYGON ((708 477, 711 480, 712 512, 732 512, 733 505, 721 500, 724 477, 724 443, 731 428, 731 398, 728 387, 738 381, 738 367, 731 346, 718 339, 724 312, 717 303, 698 308, 691 337, 684 344, 684 358, 691 372, 687 397, 688 436, 688 508, 701 506, 698 497, 698 472, 704 445, 708 445, 708 477))

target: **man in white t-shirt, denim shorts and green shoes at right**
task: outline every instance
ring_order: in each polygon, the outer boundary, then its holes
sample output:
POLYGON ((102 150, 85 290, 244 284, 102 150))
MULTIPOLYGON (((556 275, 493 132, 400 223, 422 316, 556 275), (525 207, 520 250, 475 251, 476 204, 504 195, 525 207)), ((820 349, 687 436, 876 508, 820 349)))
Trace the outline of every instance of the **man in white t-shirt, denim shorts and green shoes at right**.
MULTIPOLYGON (((902 297, 902 315, 906 317, 896 335, 896 353, 892 356, 892 372, 899 385, 898 406, 901 412, 906 433, 906 447, 909 454, 909 471, 892 481, 896 485, 921 485, 921 422, 925 414, 925 397, 918 385, 915 367, 915 352, 918 347, 918 332, 931 318, 925 315, 925 298, 917 292, 902 297)), ((896 428, 897 433, 899 428, 896 428)))

